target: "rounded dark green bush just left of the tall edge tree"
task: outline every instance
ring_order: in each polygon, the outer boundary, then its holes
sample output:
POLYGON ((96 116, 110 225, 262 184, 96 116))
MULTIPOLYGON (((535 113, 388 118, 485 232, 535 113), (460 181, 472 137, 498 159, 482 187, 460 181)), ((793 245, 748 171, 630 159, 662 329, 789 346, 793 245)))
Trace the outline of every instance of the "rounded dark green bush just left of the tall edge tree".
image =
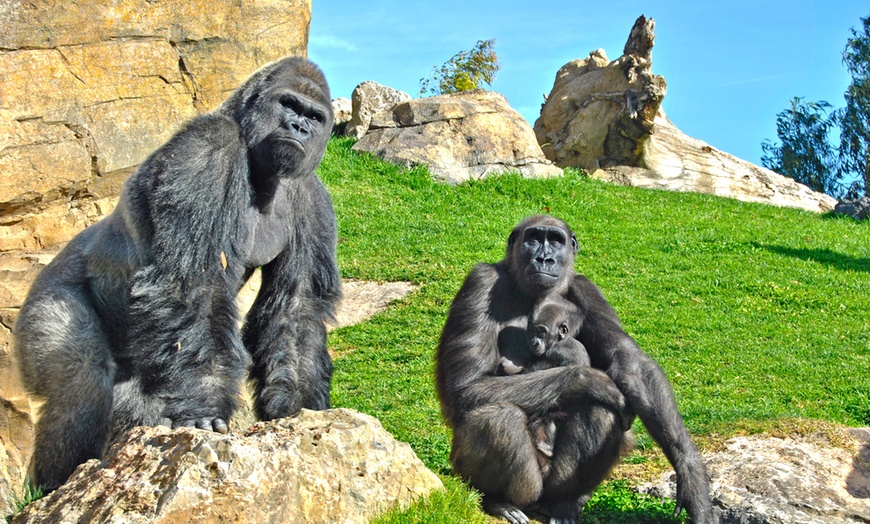
POLYGON ((835 125, 828 114, 830 109, 827 102, 792 98, 791 108, 776 116, 776 135, 782 143, 765 140, 761 144, 761 164, 814 191, 839 194, 837 150, 829 140, 835 125))

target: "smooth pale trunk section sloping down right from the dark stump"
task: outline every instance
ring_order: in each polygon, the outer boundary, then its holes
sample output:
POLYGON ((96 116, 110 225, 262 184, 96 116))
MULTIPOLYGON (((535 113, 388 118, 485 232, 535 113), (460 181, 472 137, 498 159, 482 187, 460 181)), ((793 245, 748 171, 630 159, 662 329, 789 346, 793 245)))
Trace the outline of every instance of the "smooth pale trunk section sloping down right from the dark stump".
POLYGON ((591 175, 628 186, 706 193, 814 212, 830 211, 837 203, 791 178, 687 136, 662 111, 646 141, 642 166, 613 166, 591 175))

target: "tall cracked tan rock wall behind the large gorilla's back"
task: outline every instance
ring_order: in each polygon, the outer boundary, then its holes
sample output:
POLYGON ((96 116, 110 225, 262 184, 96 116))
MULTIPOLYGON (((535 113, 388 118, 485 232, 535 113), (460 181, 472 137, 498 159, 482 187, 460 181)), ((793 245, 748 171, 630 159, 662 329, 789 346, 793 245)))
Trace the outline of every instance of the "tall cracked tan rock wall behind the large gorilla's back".
POLYGON ((69 240, 197 112, 305 56, 310 0, 0 1, 0 251, 69 240))

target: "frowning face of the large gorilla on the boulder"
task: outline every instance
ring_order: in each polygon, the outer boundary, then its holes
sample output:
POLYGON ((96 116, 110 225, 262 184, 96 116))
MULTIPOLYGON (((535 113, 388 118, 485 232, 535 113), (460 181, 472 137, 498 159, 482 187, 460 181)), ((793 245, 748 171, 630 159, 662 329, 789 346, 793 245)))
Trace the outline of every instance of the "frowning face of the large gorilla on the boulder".
POLYGON ((281 178, 311 174, 332 129, 332 107, 319 86, 292 68, 279 69, 249 102, 255 133, 246 137, 257 169, 281 178))

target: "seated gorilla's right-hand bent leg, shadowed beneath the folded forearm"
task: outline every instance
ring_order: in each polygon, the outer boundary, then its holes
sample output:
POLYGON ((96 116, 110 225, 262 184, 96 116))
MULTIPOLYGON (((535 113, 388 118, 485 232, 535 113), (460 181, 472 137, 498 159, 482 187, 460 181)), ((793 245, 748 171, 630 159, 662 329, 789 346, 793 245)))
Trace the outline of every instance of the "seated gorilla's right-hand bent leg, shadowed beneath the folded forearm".
POLYGON ((592 404, 557 422, 540 510, 551 522, 576 522, 580 507, 610 474, 634 437, 612 410, 592 404))

